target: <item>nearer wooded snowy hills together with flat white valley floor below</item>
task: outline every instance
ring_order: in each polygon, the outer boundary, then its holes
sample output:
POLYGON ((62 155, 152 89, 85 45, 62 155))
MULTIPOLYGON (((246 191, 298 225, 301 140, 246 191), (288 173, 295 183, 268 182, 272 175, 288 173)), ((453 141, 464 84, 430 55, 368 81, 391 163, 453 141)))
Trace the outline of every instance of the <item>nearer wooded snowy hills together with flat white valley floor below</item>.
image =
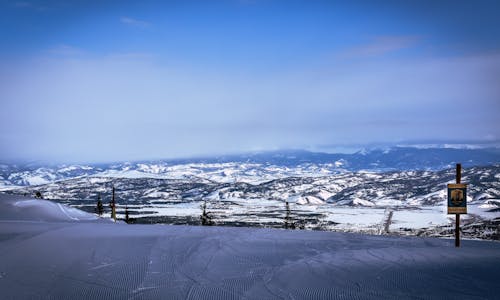
MULTIPOLYGON (((500 166, 465 169, 469 214, 464 234, 500 237, 500 166)), ((41 192, 73 207, 95 212, 99 196, 107 204, 116 188, 118 217, 125 205, 136 223, 199 224, 201 204, 217 225, 283 227, 290 216, 306 229, 375 234, 450 236, 453 220, 446 214, 446 184, 455 170, 344 172, 315 177, 286 177, 259 184, 226 183, 199 177, 184 179, 82 177, 8 191, 41 192), (388 215, 390 224, 386 224, 388 215)), ((109 215, 109 208, 107 215, 109 215)))

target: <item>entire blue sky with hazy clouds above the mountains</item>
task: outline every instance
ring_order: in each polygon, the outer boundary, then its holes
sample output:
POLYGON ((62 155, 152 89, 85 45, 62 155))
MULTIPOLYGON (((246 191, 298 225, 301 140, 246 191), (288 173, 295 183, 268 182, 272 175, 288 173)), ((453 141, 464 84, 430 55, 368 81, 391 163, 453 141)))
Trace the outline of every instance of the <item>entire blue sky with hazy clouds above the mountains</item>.
POLYGON ((498 12, 498 1, 2 1, 0 155, 496 142, 498 12))

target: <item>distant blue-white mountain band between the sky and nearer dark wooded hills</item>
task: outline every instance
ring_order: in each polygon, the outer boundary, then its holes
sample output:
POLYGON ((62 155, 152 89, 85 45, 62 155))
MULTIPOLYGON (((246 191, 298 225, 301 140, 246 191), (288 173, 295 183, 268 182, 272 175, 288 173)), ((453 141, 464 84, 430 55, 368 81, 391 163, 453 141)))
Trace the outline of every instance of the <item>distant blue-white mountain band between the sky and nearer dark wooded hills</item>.
POLYGON ((392 147, 353 154, 284 150, 206 158, 108 164, 0 164, 0 187, 31 186, 86 176, 186 178, 262 182, 288 176, 328 175, 361 170, 443 170, 500 163, 500 149, 392 147), (211 176, 213 175, 213 176, 211 176))

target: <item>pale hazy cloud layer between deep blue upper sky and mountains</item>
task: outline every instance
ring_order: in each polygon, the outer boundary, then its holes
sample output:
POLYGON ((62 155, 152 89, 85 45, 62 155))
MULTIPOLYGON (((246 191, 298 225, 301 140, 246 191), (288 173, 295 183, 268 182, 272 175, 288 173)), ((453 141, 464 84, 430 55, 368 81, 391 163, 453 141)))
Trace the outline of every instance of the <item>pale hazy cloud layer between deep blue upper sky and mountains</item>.
POLYGON ((70 159, 97 149, 113 160, 500 136, 491 79, 500 55, 330 64, 259 78, 143 55, 2 68, 14 74, 2 74, 4 155, 70 159))

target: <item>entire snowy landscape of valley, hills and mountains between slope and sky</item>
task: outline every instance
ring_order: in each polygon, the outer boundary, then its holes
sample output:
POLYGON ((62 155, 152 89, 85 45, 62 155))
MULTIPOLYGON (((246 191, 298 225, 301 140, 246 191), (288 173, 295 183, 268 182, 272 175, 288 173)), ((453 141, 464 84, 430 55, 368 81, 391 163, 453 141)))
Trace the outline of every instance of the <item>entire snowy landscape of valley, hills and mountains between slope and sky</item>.
POLYGON ((297 226, 310 229, 447 236, 452 231, 446 184, 455 180, 456 162, 468 183, 469 214, 462 220, 470 236, 499 238, 495 149, 289 151, 107 165, 2 165, 0 170, 5 192, 40 192, 88 212, 95 211, 98 197, 109 203, 114 186, 119 218, 128 206, 138 223, 199 224, 200 205, 207 202, 220 225, 282 227, 289 214, 297 226))

